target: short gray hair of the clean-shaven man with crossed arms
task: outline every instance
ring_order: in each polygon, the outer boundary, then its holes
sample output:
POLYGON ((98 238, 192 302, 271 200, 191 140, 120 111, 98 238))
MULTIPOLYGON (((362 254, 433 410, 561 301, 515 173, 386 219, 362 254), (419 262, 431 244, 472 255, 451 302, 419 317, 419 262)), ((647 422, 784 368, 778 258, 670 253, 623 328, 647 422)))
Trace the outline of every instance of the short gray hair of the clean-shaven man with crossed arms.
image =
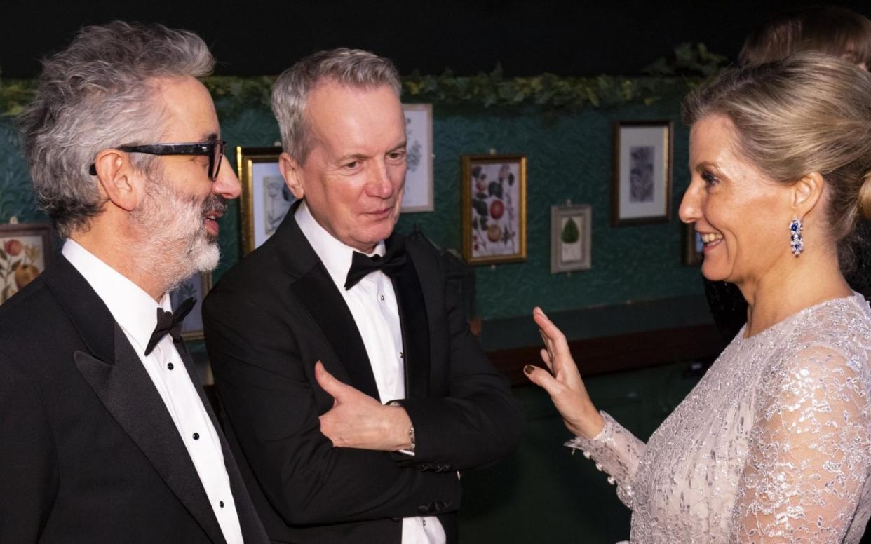
POLYGON ((402 95, 399 72, 387 58, 359 49, 318 51, 283 71, 273 86, 273 113, 278 119, 281 146, 300 165, 312 151, 311 127, 304 112, 308 94, 323 80, 350 87, 388 85, 402 95))

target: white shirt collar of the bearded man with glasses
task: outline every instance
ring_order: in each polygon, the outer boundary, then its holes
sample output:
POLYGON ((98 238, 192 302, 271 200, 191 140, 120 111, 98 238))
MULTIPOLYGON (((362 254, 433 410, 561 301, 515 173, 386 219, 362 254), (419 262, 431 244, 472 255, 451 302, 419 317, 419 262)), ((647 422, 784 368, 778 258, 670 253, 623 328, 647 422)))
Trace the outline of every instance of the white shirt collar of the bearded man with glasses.
MULTIPOLYGON (((139 344, 138 350, 145 351, 158 323, 158 303, 141 287, 76 241, 67 239, 61 253, 91 284, 91 288, 109 308, 118 326, 139 344)), ((172 309, 169 293, 164 293, 159 306, 166 311, 172 309)))

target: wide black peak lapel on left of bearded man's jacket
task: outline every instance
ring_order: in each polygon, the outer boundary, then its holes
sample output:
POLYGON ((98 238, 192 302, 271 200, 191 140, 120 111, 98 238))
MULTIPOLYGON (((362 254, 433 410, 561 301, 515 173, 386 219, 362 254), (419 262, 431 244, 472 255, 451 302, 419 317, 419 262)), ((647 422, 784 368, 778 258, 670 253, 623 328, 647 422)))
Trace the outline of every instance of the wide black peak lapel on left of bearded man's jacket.
MULTIPOLYGON (((213 542, 225 542, 179 431, 151 378, 120 327, 114 327, 115 358, 73 354, 78 371, 179 501, 213 542)), ((107 460, 108 461, 108 460, 107 460)))

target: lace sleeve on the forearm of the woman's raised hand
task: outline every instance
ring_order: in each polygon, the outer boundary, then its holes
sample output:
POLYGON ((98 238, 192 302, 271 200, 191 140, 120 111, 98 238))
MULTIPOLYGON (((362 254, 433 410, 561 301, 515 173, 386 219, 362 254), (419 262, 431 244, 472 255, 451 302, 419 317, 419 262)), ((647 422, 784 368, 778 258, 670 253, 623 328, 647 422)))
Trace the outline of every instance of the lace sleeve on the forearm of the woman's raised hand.
POLYGON ((600 412, 604 429, 591 439, 575 437, 565 446, 579 449, 584 457, 593 458, 599 470, 609 474, 608 481, 617 484, 617 496, 632 507, 632 480, 638 470, 638 460, 645 453, 645 443, 627 431, 608 413, 600 412))

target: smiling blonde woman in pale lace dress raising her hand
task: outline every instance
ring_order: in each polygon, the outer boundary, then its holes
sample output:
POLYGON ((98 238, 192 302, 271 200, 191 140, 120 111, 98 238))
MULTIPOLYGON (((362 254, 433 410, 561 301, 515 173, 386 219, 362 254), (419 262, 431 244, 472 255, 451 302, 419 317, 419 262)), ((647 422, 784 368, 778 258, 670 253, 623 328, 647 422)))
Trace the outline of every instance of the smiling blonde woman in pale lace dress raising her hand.
POLYGON ((540 309, 550 393, 632 510, 631 540, 847 542, 871 515, 871 307, 839 254, 871 216, 871 74, 795 53, 721 72, 685 100, 680 218, 746 325, 645 444, 593 406, 540 309))

